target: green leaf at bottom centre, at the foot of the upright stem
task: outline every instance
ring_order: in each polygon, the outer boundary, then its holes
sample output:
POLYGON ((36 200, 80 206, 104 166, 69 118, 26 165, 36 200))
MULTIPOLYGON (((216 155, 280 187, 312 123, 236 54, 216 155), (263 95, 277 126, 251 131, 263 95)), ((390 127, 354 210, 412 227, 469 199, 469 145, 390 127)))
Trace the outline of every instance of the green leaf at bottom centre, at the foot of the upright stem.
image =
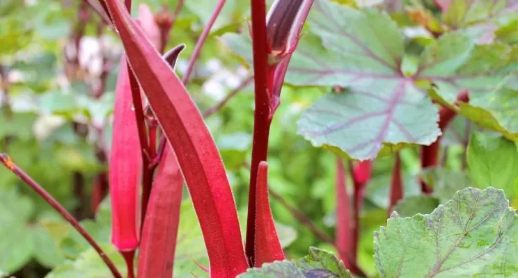
POLYGON ((332 253, 310 247, 309 255, 299 260, 265 263, 261 268, 250 268, 239 278, 349 278, 349 270, 332 253))

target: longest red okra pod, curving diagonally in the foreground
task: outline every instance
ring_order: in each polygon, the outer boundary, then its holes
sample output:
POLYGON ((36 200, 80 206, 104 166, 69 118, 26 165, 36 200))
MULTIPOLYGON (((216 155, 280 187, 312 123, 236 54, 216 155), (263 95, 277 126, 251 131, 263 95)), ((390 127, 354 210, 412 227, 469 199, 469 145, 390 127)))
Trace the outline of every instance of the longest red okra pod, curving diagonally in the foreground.
POLYGON ((248 267, 235 202, 221 157, 178 76, 143 35, 122 3, 106 4, 128 60, 178 158, 210 259, 211 277, 235 277, 248 267))

